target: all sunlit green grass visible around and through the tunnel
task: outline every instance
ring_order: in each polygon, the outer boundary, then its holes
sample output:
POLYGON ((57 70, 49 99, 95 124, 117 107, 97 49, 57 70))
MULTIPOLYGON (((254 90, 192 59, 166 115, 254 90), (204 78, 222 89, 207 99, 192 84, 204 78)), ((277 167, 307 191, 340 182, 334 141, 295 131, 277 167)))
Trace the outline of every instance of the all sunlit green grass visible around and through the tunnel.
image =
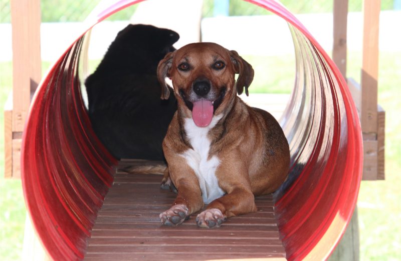
MULTIPOLYGON (((255 68, 251 92, 289 92, 294 81, 292 56, 246 56, 255 68)), ((94 62, 93 64, 95 64, 94 62)), ((348 57, 349 76, 359 81, 360 53, 348 57)), ((50 64, 43 63, 43 71, 50 64)), ((92 65, 94 66, 94 65, 92 65)), ((400 260, 401 255, 401 119, 399 84, 401 53, 380 53, 378 101, 386 110, 384 181, 362 181, 358 198, 360 260, 400 260)), ((25 222, 20 180, 4 179, 3 107, 12 86, 11 62, 0 62, 0 256, 19 260, 25 222)))

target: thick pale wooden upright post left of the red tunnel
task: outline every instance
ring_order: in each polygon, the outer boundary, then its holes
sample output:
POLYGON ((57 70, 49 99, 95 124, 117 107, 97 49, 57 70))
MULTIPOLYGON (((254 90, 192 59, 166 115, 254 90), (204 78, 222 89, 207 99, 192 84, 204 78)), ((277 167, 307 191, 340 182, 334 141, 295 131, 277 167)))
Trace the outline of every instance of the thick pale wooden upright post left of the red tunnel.
POLYGON ((13 131, 23 131, 31 91, 41 79, 40 0, 11 0, 13 25, 13 131))

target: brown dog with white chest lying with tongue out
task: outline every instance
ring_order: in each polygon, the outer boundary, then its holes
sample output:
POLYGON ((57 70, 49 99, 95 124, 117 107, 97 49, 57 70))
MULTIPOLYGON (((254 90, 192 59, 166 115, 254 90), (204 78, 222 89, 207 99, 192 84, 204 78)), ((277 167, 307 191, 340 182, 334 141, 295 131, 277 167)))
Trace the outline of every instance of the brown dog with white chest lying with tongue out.
POLYGON ((248 95, 252 66, 216 43, 191 43, 167 53, 157 74, 161 98, 169 96, 170 77, 178 102, 163 140, 178 195, 161 222, 180 224, 204 203, 200 227, 256 211, 254 195, 271 193, 286 179, 290 152, 276 119, 237 96, 244 87, 248 95))

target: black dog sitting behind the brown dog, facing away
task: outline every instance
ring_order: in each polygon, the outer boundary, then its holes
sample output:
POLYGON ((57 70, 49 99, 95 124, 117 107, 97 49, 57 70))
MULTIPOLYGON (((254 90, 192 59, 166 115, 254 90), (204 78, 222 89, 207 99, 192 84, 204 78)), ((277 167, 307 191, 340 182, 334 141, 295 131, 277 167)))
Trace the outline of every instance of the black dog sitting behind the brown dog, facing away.
POLYGON ((86 79, 93 129, 116 158, 164 159, 161 142, 177 105, 174 95, 160 99, 156 68, 178 38, 169 29, 130 24, 86 79))

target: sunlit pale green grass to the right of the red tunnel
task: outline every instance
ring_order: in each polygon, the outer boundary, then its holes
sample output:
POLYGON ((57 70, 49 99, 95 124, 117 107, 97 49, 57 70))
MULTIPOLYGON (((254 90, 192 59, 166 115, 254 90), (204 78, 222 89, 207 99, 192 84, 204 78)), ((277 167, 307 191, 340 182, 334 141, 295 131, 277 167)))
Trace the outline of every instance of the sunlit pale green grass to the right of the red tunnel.
MULTIPOLYGON (((351 54, 349 72, 360 71, 351 54)), ((358 197, 360 260, 401 260, 401 53, 380 53, 378 103, 385 110, 385 180, 362 181, 358 197)))

